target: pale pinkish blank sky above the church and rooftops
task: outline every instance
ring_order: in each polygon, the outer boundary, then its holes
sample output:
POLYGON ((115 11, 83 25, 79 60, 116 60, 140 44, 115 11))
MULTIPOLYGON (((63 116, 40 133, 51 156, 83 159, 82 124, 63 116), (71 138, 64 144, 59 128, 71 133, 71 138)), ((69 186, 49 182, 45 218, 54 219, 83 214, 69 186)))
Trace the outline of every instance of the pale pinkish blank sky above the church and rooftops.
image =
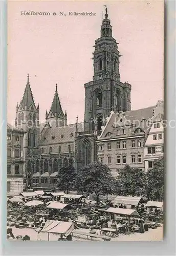
POLYGON ((122 82, 131 84, 131 109, 156 105, 164 95, 164 1, 9 1, 8 3, 8 122, 14 123, 16 104, 30 85, 45 122, 58 84, 68 122, 84 118, 84 83, 93 79, 95 40, 105 7, 119 43, 122 82), (50 16, 21 15, 50 12, 50 16), (66 16, 53 16, 63 11, 66 16), (95 16, 69 16, 69 12, 95 16))

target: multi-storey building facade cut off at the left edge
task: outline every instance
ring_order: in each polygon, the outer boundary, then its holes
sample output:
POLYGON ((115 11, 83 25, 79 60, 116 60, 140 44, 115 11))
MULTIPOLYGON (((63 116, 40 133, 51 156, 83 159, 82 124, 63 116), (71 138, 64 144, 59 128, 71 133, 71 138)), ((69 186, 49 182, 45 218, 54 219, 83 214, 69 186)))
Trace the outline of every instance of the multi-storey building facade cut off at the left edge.
POLYGON ((23 138, 24 131, 7 124, 7 196, 23 192, 23 138))

